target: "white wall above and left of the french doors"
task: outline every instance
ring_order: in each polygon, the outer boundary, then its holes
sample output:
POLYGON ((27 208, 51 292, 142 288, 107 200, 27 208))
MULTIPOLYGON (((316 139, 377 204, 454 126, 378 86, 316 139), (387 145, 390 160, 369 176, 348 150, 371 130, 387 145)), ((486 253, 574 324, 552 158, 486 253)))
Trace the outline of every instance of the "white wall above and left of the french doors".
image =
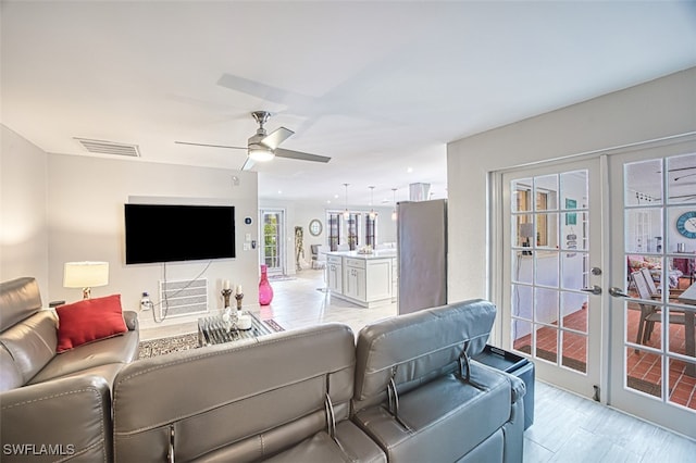
POLYGON ((489 173, 696 130, 696 67, 447 147, 450 301, 488 298, 489 173))

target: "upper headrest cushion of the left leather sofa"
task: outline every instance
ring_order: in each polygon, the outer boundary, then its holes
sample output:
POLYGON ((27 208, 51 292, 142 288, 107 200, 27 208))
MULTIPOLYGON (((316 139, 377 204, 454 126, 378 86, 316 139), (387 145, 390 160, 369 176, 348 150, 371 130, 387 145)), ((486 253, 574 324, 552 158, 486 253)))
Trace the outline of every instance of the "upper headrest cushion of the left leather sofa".
POLYGON ((41 295, 36 278, 25 276, 0 283, 0 331, 41 310, 41 295))

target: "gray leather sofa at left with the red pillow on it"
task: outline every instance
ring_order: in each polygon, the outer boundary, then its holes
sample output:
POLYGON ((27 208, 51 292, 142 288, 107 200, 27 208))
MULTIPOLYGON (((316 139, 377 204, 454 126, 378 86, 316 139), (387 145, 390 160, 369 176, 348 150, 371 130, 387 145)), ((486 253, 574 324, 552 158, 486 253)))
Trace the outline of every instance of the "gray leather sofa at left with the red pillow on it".
POLYGON ((111 460, 110 386, 138 355, 137 315, 124 318, 124 335, 57 354, 58 316, 36 280, 0 284, 2 462, 111 460))

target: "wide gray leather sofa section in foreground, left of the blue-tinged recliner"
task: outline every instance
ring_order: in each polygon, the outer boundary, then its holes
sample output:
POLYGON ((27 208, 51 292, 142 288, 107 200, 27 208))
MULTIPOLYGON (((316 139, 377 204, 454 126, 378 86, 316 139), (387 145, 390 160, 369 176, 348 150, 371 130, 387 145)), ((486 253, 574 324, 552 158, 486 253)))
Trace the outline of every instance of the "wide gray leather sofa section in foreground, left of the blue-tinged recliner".
POLYGON ((120 462, 386 462, 350 421, 348 326, 306 329, 144 359, 113 389, 120 462))

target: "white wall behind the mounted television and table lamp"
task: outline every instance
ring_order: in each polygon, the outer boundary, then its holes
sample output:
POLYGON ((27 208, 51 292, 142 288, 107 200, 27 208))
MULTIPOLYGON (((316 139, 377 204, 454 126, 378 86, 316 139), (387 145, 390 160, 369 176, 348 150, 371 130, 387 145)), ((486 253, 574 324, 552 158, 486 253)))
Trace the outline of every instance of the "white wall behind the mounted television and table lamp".
MULTIPOLYGON (((256 220, 245 225, 244 217, 257 217, 257 173, 222 168, 192 167, 142 162, 139 159, 48 155, 48 236, 49 293, 51 299, 74 301, 79 289, 62 286, 63 264, 69 261, 107 261, 109 285, 92 288, 92 297, 121 293, 124 309, 137 310, 140 295, 149 291, 159 300, 159 280, 191 279, 211 262, 202 277, 208 278, 209 308, 222 308, 222 281, 249 288, 245 304, 258 303, 258 250, 244 251, 245 234, 258 240, 256 220), (239 178, 238 185, 233 176, 239 178), (231 204, 236 215, 236 259, 125 265, 124 204, 132 197, 181 198, 182 203, 231 204), (192 201, 201 199, 201 201, 192 201), (166 268, 166 275, 164 270, 166 268)), ((157 224, 152 224, 157 226, 157 224)), ((183 224, 204 226, 204 224, 183 224)), ((162 229, 162 239, 166 239, 162 229)), ((192 317, 191 320, 195 320, 192 317)), ((185 318, 172 318, 181 323, 185 318)), ((144 328, 153 326, 150 314, 141 314, 144 328)))

